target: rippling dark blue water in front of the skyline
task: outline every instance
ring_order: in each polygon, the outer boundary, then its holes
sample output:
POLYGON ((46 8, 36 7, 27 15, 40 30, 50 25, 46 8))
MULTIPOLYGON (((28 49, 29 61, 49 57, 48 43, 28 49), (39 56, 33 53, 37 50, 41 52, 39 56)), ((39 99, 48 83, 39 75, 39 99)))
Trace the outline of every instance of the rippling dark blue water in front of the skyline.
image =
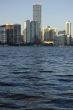
POLYGON ((0 47, 0 110, 73 110, 73 47, 0 47))

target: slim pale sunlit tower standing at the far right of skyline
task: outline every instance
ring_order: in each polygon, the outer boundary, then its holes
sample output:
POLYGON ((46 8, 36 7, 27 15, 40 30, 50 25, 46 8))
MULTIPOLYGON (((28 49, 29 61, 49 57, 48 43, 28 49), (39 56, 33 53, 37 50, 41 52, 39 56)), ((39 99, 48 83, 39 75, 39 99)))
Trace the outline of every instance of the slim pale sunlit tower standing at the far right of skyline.
POLYGON ((71 45, 71 22, 66 22, 67 45, 71 45))

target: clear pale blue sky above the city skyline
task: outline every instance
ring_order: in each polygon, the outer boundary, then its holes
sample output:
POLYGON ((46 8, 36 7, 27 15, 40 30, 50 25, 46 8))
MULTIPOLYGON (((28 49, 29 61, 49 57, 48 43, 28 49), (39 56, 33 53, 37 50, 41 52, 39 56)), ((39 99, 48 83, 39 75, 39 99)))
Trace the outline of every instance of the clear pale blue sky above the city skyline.
POLYGON ((33 4, 42 5, 42 26, 65 29, 65 22, 73 23, 73 0, 0 0, 0 24, 32 20, 33 4))

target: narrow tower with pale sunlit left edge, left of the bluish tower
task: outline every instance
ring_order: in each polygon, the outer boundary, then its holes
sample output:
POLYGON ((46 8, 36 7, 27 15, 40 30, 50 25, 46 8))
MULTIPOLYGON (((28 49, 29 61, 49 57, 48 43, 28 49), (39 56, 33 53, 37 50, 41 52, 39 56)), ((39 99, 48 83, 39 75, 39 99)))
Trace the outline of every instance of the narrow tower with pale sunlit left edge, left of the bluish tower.
POLYGON ((30 43, 30 20, 24 22, 23 33, 24 33, 23 42, 30 43))

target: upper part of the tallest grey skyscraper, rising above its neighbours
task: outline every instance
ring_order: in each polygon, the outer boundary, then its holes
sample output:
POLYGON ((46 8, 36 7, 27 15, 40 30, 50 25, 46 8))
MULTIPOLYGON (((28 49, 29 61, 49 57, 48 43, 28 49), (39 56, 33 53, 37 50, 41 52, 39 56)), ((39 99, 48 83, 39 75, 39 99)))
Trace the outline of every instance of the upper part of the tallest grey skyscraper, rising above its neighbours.
POLYGON ((37 21, 41 28, 41 5, 33 5, 33 21, 37 21))

